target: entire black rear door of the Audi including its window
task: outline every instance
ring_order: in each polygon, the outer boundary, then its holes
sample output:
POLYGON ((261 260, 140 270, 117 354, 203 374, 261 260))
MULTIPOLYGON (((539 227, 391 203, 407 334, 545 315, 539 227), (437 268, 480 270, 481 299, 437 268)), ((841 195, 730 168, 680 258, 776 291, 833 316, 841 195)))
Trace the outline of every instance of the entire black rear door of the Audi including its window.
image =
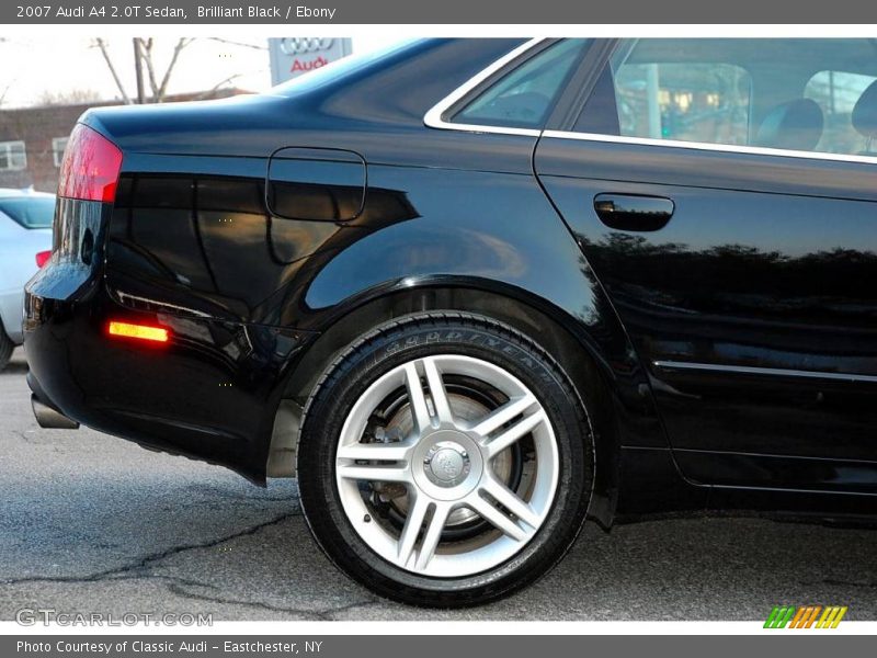
POLYGON ((650 373, 681 470, 877 492, 872 39, 607 52, 534 166, 650 373))

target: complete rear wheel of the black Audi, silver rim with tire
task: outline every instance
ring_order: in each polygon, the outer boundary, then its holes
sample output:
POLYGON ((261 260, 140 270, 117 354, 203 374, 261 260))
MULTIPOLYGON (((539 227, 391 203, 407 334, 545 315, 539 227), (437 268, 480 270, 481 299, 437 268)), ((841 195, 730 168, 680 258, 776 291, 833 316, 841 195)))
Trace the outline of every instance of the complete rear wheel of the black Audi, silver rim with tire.
POLYGON ((590 431, 566 375, 486 318, 377 330, 306 409, 298 473, 318 542, 384 595, 472 604, 523 587, 574 540, 590 431))

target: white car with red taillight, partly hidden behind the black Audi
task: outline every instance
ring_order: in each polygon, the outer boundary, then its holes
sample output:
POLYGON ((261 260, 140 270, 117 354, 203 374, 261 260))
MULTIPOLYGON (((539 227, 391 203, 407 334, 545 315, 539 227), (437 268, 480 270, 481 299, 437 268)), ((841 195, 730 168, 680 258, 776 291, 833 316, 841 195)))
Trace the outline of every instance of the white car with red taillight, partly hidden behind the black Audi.
POLYGON ((22 342, 24 284, 52 256, 55 195, 0 188, 0 371, 22 342))

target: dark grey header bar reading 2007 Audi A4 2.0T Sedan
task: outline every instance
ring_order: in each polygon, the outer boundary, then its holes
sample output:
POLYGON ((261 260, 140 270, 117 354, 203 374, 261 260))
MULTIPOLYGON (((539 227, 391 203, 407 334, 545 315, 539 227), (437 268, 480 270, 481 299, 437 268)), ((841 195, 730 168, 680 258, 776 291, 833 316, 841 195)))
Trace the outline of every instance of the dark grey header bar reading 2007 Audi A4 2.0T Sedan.
MULTIPOLYGON (((13 0, 4 24, 877 24, 863 0, 13 0)), ((524 30, 527 32, 527 30, 524 30)), ((532 32, 532 30, 531 30, 532 32)), ((877 36, 877 34, 875 35, 877 36)))

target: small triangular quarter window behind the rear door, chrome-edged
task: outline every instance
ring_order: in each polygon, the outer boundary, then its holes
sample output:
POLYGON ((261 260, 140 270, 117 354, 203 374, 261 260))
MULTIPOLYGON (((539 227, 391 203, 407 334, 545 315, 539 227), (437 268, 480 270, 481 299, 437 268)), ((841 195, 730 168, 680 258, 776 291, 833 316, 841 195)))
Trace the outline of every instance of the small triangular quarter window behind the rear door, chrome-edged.
POLYGON ((557 43, 506 73, 451 120, 453 123, 542 128, 572 75, 586 39, 557 43))

